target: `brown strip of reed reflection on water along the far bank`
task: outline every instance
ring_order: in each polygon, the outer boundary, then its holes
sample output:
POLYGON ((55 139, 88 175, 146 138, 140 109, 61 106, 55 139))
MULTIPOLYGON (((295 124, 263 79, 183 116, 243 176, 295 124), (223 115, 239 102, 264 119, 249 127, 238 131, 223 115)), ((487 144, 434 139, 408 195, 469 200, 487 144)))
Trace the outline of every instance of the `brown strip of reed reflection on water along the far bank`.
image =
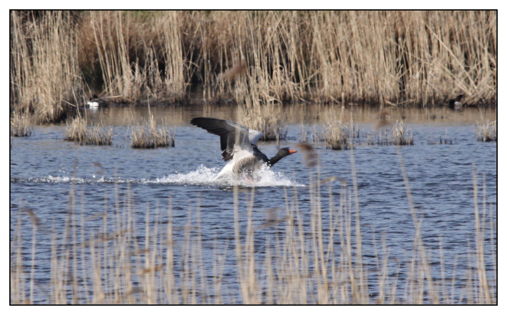
MULTIPOLYGON (((382 114, 388 116, 389 121, 404 120, 406 123, 419 123, 425 125, 459 124, 469 125, 477 121, 496 120, 496 107, 494 108, 467 108, 461 111, 451 110, 447 107, 439 108, 384 108, 382 110, 370 107, 327 106, 320 104, 290 104, 280 105, 280 115, 287 124, 313 124, 340 120, 359 124, 378 124, 382 114)), ((188 105, 188 106, 152 106, 151 112, 158 123, 167 121, 171 126, 188 125, 194 117, 214 117, 237 121, 237 107, 220 105, 188 105)), ((98 122, 98 112, 87 111, 91 120, 98 122)), ((141 123, 148 119, 147 107, 113 107, 104 109, 104 123, 114 126, 128 126, 141 123)))

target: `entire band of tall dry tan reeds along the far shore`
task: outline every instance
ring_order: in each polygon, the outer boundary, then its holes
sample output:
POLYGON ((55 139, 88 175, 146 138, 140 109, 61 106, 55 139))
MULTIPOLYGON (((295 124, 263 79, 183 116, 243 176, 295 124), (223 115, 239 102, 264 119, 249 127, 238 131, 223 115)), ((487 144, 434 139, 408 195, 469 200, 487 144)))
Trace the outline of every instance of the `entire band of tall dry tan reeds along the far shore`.
POLYGON ((496 102, 495 11, 11 13, 11 110, 59 121, 83 85, 118 102, 496 102), (51 66, 49 66, 51 65, 51 66))

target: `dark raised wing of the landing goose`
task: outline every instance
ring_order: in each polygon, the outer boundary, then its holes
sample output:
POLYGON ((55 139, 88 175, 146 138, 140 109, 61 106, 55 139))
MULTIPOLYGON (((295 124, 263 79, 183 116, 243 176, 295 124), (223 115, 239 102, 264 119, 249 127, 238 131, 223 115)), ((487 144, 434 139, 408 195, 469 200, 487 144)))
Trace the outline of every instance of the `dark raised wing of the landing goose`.
MULTIPOLYGON (((190 121, 192 125, 200 127, 209 133, 220 136, 220 149, 222 150, 222 158, 229 161, 234 155, 234 144, 236 143, 236 133, 239 132, 239 144, 244 142, 245 134, 248 139, 248 128, 232 121, 208 117, 198 117, 190 121)), ((249 147, 249 142, 248 147, 249 147)))

